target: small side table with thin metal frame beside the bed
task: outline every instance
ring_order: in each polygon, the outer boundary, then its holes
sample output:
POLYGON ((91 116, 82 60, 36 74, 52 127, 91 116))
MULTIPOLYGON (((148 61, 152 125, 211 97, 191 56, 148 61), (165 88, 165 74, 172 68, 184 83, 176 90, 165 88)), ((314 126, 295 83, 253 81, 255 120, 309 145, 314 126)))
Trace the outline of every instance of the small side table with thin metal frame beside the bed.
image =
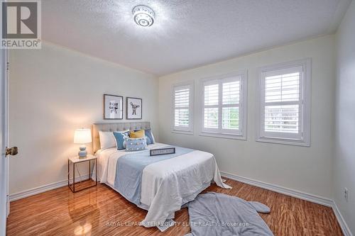
MULTIPOLYGON (((77 172, 79 173, 78 170, 77 170, 77 172)), ((79 175, 80 175, 80 173, 79 173, 79 175)), ((92 186, 97 186, 97 157, 90 155, 90 154, 87 155, 87 158, 70 157, 67 160, 67 186, 69 187, 69 189, 73 193, 75 193, 77 191, 82 191, 82 190, 87 189, 92 186), (91 171, 91 167, 92 167, 91 162, 92 161, 94 161, 94 167, 95 167, 95 181, 92 181, 92 179, 91 179, 92 174, 94 174, 93 173, 94 169, 91 171), (80 180, 78 182, 75 182, 75 165, 78 163, 82 163, 82 162, 89 162, 89 179, 82 180, 82 178, 80 176, 80 180), (70 164, 72 164, 72 179, 70 179, 70 164), (94 184, 75 190, 75 185, 77 185, 77 184, 84 185, 84 184, 82 184, 83 181, 92 181, 92 182, 94 182, 94 184)))

